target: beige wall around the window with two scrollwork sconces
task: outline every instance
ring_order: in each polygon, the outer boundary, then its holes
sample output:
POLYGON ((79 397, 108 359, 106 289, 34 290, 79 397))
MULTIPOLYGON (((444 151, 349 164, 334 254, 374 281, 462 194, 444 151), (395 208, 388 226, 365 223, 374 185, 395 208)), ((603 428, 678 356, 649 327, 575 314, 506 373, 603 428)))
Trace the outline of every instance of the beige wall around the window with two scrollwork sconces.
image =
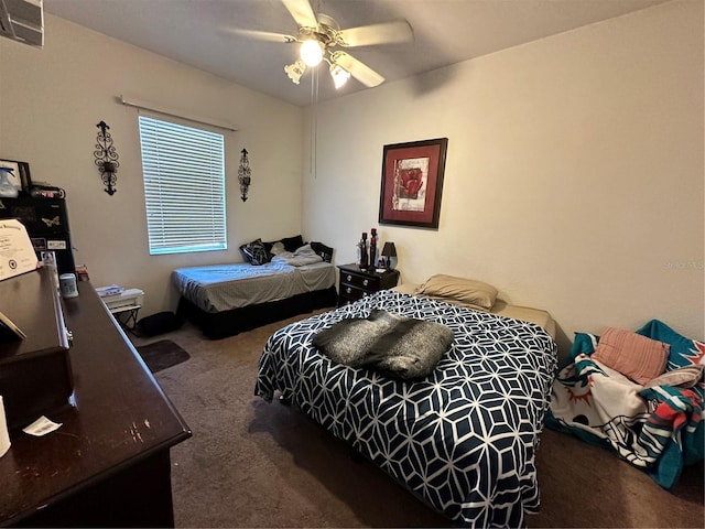
POLYGON ((66 190, 76 262, 87 264, 94 285, 143 289, 140 315, 175 309, 174 268, 239 261, 245 241, 301 231, 302 123, 299 107, 48 14, 44 48, 0 39, 0 158, 26 161, 33 180, 66 190), (149 255, 138 110, 118 104, 121 94, 237 126, 226 133, 227 251, 149 255), (100 120, 120 156, 113 196, 94 164, 100 120), (253 180, 246 203, 237 182, 242 148, 253 180))

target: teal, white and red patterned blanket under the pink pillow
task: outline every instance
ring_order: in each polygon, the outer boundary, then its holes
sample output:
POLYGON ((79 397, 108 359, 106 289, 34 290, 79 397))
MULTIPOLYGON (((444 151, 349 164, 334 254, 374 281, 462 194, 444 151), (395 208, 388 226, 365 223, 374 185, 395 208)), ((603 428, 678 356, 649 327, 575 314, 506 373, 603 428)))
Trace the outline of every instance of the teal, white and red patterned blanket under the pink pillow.
MULTIPOLYGON (((652 320, 637 333, 671 346, 666 371, 705 364, 705 344, 663 322, 652 320)), ((598 341, 576 334, 553 384, 546 425, 612 449, 671 488, 684 465, 704 457, 703 378, 690 388, 640 386, 590 357, 598 341)))

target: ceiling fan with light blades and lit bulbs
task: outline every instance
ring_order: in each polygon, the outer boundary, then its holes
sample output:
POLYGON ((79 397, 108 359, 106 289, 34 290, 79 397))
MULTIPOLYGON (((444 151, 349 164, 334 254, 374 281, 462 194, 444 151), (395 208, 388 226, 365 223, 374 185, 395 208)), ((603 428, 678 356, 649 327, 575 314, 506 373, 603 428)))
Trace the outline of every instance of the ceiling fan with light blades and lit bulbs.
MULTIPOLYGON (((338 48, 404 43, 413 40, 413 31, 405 20, 341 30, 332 17, 315 13, 310 0, 282 0, 282 3, 299 25, 295 36, 279 35, 283 37, 283 42, 300 44, 300 58, 284 66, 284 72, 296 85, 307 67, 326 62, 336 88, 343 87, 350 75, 365 86, 378 86, 384 82, 384 77, 338 48)), ((258 36, 259 32, 245 33, 258 36)), ((265 35, 271 40, 271 33, 265 35)))

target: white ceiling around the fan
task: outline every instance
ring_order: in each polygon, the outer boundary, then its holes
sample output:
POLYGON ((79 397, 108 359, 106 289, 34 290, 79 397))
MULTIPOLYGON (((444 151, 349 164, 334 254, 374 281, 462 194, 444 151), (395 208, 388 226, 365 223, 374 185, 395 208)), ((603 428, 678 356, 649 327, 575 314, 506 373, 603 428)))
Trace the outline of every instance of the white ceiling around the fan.
MULTIPOLYGON (((668 0, 311 0, 341 29, 405 19, 406 44, 348 48, 387 82, 466 61, 668 0)), ((284 73, 297 46, 245 31, 296 34, 281 0, 44 0, 46 13, 185 63, 294 105, 311 104, 311 68, 300 85, 284 73)), ((51 25, 48 26, 51 31, 51 25)), ((51 34, 46 34, 51 42, 51 34)), ((318 68, 325 67, 324 65, 318 68)), ((367 89, 351 78, 336 93, 322 75, 318 100, 367 89)))

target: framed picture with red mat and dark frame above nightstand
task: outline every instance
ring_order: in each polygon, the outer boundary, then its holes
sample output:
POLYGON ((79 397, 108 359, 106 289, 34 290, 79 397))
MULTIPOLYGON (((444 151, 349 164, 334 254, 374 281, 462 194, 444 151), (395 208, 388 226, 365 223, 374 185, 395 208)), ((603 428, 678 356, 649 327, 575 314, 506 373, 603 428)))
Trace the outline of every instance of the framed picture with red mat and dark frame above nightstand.
POLYGON ((438 228, 447 138, 384 145, 379 223, 438 228))

